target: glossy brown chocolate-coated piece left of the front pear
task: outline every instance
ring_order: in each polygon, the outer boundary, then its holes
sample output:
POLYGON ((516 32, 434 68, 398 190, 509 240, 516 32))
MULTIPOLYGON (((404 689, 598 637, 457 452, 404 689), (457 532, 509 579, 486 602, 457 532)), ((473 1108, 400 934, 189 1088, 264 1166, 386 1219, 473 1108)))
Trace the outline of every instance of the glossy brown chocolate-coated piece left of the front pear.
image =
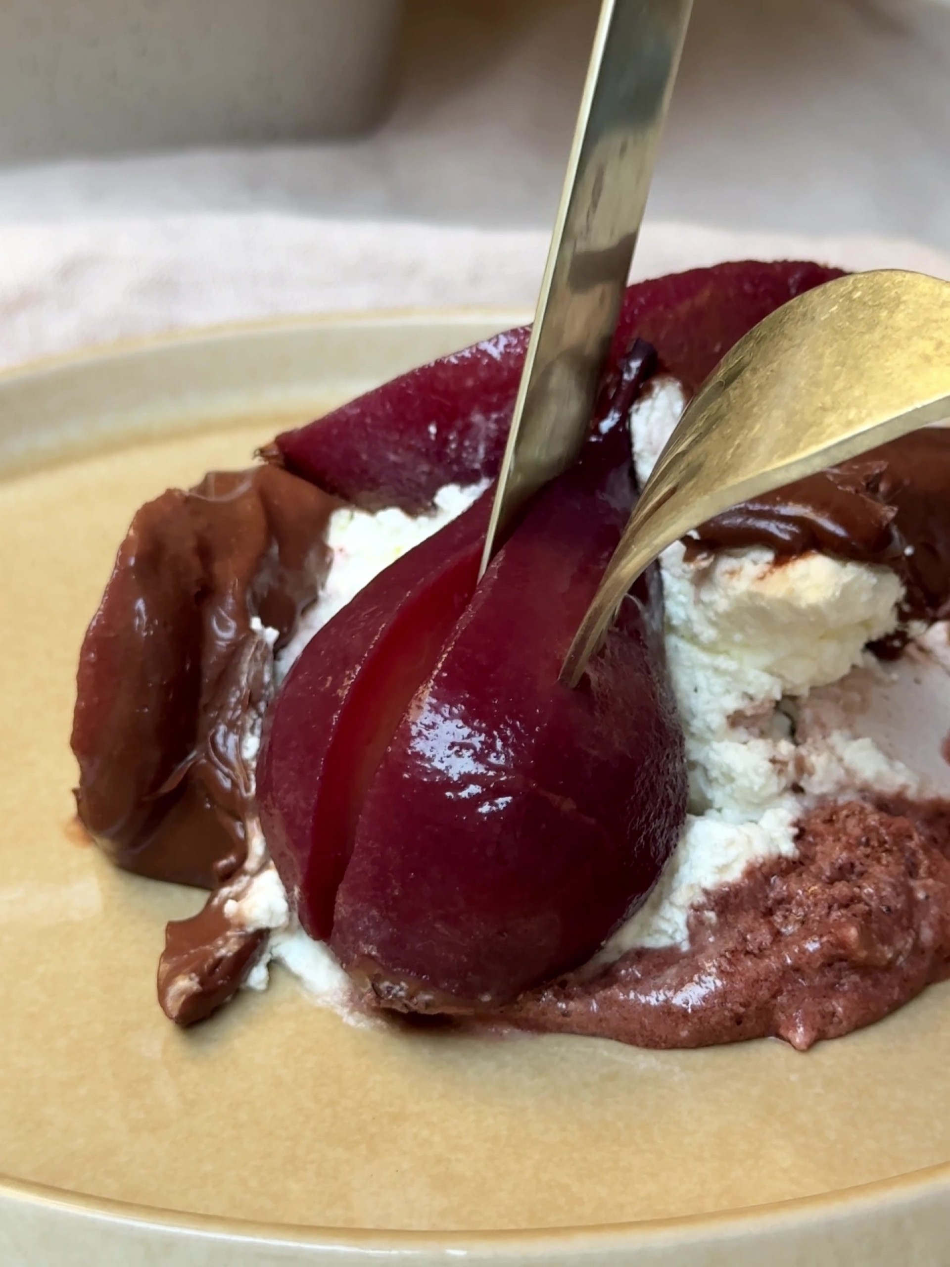
POLYGON ((338 503, 274 466, 147 503, 80 654, 79 816, 119 867, 213 888, 246 856, 242 740, 272 694, 272 649, 329 568, 338 503))

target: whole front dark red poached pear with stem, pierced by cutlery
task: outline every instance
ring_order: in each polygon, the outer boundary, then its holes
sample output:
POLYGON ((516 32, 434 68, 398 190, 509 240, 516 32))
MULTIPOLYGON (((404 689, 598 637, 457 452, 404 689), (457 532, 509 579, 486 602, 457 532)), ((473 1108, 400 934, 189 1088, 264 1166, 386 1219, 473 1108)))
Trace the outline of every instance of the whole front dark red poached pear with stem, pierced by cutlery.
POLYGON ((584 687, 557 680, 635 499, 626 414, 652 361, 637 343, 618 367, 609 422, 478 590, 488 497, 337 613, 271 708, 275 862, 304 927, 390 1006, 491 1006, 583 962, 675 845, 655 574, 584 687))

